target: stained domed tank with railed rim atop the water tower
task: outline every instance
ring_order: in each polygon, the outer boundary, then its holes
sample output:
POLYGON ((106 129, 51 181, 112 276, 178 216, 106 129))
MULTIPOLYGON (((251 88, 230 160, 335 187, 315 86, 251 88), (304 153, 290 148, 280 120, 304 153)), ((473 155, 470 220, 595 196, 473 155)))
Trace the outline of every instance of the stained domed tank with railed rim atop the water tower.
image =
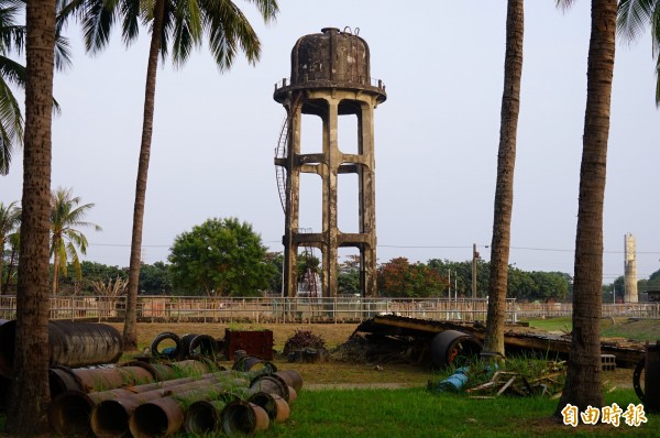
POLYGON ((385 85, 371 77, 366 41, 337 28, 298 39, 292 50, 290 80, 275 86, 274 98, 282 102, 287 91, 302 88, 360 89, 376 94, 378 102, 387 98, 385 85))

